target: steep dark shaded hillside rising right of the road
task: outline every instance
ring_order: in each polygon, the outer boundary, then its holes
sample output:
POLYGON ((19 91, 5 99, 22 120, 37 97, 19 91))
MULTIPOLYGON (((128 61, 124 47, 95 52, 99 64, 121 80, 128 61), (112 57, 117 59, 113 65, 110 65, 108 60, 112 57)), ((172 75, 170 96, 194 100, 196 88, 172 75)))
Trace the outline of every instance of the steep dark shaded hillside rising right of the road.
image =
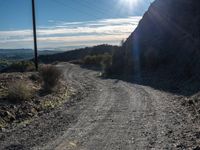
POLYGON ((199 75, 200 1, 155 0, 114 55, 114 65, 118 56, 126 73, 167 68, 182 77, 199 75))

